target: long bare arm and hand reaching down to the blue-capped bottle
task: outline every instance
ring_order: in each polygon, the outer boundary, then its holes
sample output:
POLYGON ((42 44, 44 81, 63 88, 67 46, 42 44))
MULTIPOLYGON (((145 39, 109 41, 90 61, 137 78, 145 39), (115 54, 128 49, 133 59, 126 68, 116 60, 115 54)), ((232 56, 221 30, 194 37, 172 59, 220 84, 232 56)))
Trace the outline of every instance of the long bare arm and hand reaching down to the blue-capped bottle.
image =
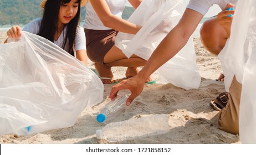
POLYGON ((129 106, 130 103, 139 96, 144 88, 146 79, 161 65, 165 64, 173 56, 175 56, 178 51, 180 51, 183 46, 186 45, 188 39, 196 29, 198 23, 203 18, 201 13, 193 11, 192 9, 186 9, 180 22, 173 28, 162 42, 157 46, 150 59, 147 61, 144 68, 134 77, 128 80, 123 80, 119 84, 112 87, 109 97, 113 99, 117 96, 117 92, 122 89, 129 89, 131 95, 126 101, 126 105, 129 106))

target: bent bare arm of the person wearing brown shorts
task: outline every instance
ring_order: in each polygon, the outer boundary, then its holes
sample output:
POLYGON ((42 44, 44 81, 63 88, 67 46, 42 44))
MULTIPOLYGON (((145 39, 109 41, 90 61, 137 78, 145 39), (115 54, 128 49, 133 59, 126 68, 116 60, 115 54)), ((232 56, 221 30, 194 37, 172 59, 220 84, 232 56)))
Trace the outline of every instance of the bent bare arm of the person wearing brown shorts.
POLYGON ((140 25, 127 22, 124 19, 114 16, 110 12, 110 8, 107 6, 105 0, 90 0, 90 2, 105 27, 130 34, 136 34, 140 30, 140 25))

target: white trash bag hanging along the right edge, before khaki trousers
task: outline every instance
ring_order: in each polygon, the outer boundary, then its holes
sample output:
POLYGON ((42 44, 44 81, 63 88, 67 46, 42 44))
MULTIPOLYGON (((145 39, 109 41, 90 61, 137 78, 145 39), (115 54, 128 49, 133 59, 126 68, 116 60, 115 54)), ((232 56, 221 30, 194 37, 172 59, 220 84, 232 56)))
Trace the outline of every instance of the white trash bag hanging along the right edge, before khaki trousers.
POLYGON ((239 0, 231 36, 219 54, 226 90, 235 75, 242 84, 239 136, 242 143, 256 143, 256 1, 239 0), (226 79, 226 77, 228 77, 226 79))

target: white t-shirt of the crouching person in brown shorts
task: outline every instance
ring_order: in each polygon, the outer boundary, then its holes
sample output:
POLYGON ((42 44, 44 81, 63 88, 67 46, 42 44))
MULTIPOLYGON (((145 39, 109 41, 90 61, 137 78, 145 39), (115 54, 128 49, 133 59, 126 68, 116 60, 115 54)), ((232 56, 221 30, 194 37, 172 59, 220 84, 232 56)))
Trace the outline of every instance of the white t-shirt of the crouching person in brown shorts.
MULTIPOLYGON (((106 0, 107 5, 109 6, 110 12, 114 16, 117 16, 119 18, 122 18, 122 12, 125 9, 126 2, 127 0, 106 0)), ((86 14, 85 14, 85 22, 83 25, 84 28, 94 29, 94 30, 111 29, 103 25, 100 18, 94 11, 93 6, 91 6, 90 2, 86 4, 85 8, 86 8, 86 14)))

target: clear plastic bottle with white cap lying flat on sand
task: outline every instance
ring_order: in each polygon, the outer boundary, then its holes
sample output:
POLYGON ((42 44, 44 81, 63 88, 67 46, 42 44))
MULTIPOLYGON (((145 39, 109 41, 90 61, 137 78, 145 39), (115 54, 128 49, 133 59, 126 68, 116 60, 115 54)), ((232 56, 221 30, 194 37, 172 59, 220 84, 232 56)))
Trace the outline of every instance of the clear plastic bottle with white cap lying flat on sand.
POLYGON ((137 137, 159 135, 168 131, 168 116, 162 114, 109 123, 102 130, 96 130, 96 137, 109 142, 118 142, 137 137))

